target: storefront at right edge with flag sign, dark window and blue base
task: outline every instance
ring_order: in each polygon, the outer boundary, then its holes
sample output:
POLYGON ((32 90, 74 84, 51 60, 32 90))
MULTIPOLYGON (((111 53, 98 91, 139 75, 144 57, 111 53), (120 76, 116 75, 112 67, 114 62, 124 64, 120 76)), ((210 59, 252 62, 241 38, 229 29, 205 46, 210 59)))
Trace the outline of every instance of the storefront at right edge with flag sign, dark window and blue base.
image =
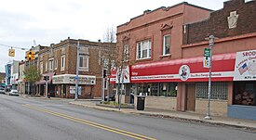
POLYGON ((228 117, 256 120, 256 50, 236 53, 233 105, 228 117))

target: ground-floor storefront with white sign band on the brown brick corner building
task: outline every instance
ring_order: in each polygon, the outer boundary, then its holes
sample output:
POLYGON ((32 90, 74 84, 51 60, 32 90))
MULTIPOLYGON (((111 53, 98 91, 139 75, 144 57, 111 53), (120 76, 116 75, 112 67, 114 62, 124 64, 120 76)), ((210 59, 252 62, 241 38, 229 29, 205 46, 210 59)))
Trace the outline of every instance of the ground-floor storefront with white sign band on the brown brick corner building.
MULTIPOLYGON (((75 75, 62 74, 54 75, 52 83, 55 85, 55 94, 59 97, 74 98, 75 94, 75 75)), ((92 88, 96 84, 96 76, 78 76, 78 95, 80 98, 91 97, 92 88)))

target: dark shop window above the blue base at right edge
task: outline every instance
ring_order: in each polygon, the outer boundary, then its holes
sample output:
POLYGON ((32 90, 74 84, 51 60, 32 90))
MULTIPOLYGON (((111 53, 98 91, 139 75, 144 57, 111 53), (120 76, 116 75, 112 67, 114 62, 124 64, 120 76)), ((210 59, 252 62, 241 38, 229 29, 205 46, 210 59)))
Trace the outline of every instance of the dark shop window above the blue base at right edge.
POLYGON ((256 106, 256 83, 235 82, 234 104, 244 106, 256 106))

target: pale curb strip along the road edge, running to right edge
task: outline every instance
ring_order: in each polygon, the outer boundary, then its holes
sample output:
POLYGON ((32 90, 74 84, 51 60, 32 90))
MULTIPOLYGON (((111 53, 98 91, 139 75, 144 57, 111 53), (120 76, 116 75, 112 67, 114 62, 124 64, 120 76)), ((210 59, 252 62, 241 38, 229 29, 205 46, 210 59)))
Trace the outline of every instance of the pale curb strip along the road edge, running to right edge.
POLYGON ((172 120, 176 120, 176 121, 186 121, 186 122, 199 122, 202 124, 210 124, 210 125, 217 125, 217 126, 228 126, 228 127, 234 127, 234 128, 238 128, 238 129, 243 129, 243 130, 247 130, 247 131, 252 131, 252 132, 256 132, 256 128, 254 127, 249 127, 249 126, 242 126, 242 125, 236 125, 236 124, 228 124, 228 123, 222 123, 222 122, 214 122, 214 121, 204 121, 204 120, 200 120, 200 119, 188 119, 188 118, 182 118, 182 117, 176 117, 176 116, 170 116, 170 115, 163 115, 163 114, 151 114, 151 113, 143 113, 143 112, 125 112, 122 110, 115 110, 114 108, 109 108, 108 107, 97 107, 97 106, 88 106, 85 104, 80 104, 80 103, 74 103, 74 102, 69 102, 70 105, 75 105, 75 106, 80 106, 80 107, 85 107, 85 108, 95 108, 98 110, 105 110, 105 111, 115 111, 115 112, 120 112, 120 113, 124 113, 124 114, 133 114, 133 115, 141 115, 141 116, 150 116, 150 117, 157 117, 157 118, 165 118, 165 119, 172 119, 172 120))

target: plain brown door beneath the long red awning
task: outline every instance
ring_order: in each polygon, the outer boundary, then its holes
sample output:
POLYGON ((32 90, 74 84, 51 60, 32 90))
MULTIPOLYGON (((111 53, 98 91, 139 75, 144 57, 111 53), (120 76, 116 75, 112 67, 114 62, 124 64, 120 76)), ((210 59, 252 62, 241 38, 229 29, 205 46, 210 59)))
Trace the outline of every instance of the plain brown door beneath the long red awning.
POLYGON ((195 83, 186 84, 186 110, 195 111, 195 83))

